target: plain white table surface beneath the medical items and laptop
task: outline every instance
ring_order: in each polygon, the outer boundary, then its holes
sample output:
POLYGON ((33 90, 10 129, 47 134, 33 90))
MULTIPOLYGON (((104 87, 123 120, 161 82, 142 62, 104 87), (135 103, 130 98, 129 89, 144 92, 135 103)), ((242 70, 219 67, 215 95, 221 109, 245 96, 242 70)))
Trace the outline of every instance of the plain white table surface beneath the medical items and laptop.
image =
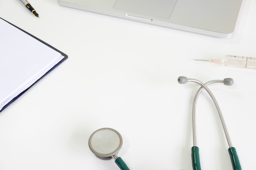
MULTIPOLYGON (((0 170, 118 170, 88 147, 92 132, 110 127, 124 143, 118 156, 131 170, 192 170, 192 102, 197 84, 211 85, 244 170, 256 164, 256 70, 193 59, 256 57, 256 1, 244 0, 234 36, 199 35, 80 11, 57 0, 0 2, 0 17, 69 58, 0 113, 0 170)), ((28 47, 29 49, 29 47, 28 47)), ((198 100, 202 169, 232 170, 213 103, 198 100)))

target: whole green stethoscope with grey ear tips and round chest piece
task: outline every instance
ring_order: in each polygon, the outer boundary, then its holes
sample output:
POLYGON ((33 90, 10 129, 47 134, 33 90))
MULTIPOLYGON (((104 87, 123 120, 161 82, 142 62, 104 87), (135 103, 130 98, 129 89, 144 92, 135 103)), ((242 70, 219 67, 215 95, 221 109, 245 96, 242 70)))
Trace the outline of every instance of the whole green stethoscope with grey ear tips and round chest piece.
MULTIPOLYGON (((222 124, 222 128, 224 130, 227 143, 228 143, 228 152, 231 159, 231 163, 233 166, 233 170, 242 170, 240 166, 240 162, 238 159, 238 155, 236 152, 236 148, 234 148, 231 144, 231 140, 227 131, 227 127, 225 125, 225 121, 223 119, 220 106, 218 105, 218 102, 216 101, 215 97, 207 87, 209 84, 214 83, 223 83, 224 85, 231 86, 234 83, 234 80, 231 78, 226 78, 224 80, 211 80, 209 82, 206 82, 203 84, 202 82, 196 80, 196 79, 188 79, 187 77, 180 76, 178 78, 178 82, 180 84, 185 84, 187 82, 195 82, 199 84, 201 87, 198 89, 194 102, 193 102, 193 112, 192 112, 192 121, 193 121, 193 146, 191 148, 191 157, 192 157, 192 166, 193 170, 201 170, 200 166, 200 157, 199 157, 199 148, 197 146, 196 142, 196 129, 195 129, 195 106, 197 103, 198 96, 202 89, 207 91, 207 93, 210 95, 211 99, 213 100, 214 105, 216 106, 218 115, 220 117, 220 121, 222 124)), ((121 149, 121 146, 123 144, 123 139, 117 130, 112 128, 101 128, 96 130, 92 133, 92 135, 89 138, 89 148, 90 150, 100 159, 114 159, 115 163, 119 166, 121 170, 130 170, 126 163, 121 159, 121 157, 117 156, 117 153, 121 149)))

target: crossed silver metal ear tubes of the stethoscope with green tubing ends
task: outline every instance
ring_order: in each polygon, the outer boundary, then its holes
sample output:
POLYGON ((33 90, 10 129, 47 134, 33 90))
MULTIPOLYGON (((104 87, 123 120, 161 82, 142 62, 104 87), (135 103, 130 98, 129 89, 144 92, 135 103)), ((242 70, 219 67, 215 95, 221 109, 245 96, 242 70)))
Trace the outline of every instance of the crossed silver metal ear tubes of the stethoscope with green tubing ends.
MULTIPOLYGON (((198 89, 195 98, 194 98, 194 102, 193 102, 193 147, 191 148, 191 157, 192 157, 192 166, 193 166, 193 170, 201 170, 201 166, 200 166, 200 157, 199 157, 199 148, 196 146, 196 130, 195 130, 195 106, 196 106, 196 102, 198 99, 198 95, 200 94, 200 92, 202 91, 202 89, 204 88, 207 93, 210 95, 211 99, 213 100, 214 105, 216 106, 216 109, 218 111, 218 115, 220 117, 220 121, 222 124, 222 128, 224 130, 226 139, 227 139, 227 143, 229 146, 228 152, 229 152, 229 156, 231 159, 231 164, 233 167, 233 170, 242 170, 241 165, 240 165, 240 161, 238 159, 238 155, 236 152, 236 148, 234 148, 231 144, 231 140, 227 131, 227 127, 225 125, 225 121, 223 119, 221 110, 220 110, 220 106, 218 105, 218 102, 216 101, 215 97, 213 96, 213 94, 211 93, 211 91, 209 90, 209 88, 207 87, 207 85, 209 84, 213 84, 213 83, 223 83, 224 80, 211 80, 209 82, 206 82, 205 84, 203 84, 202 82, 196 80, 196 79, 187 79, 188 82, 195 82, 197 84, 199 84, 201 87, 198 89)), ((232 80, 233 81, 233 80, 232 80)), ((233 84, 233 82, 232 82, 233 84)))

